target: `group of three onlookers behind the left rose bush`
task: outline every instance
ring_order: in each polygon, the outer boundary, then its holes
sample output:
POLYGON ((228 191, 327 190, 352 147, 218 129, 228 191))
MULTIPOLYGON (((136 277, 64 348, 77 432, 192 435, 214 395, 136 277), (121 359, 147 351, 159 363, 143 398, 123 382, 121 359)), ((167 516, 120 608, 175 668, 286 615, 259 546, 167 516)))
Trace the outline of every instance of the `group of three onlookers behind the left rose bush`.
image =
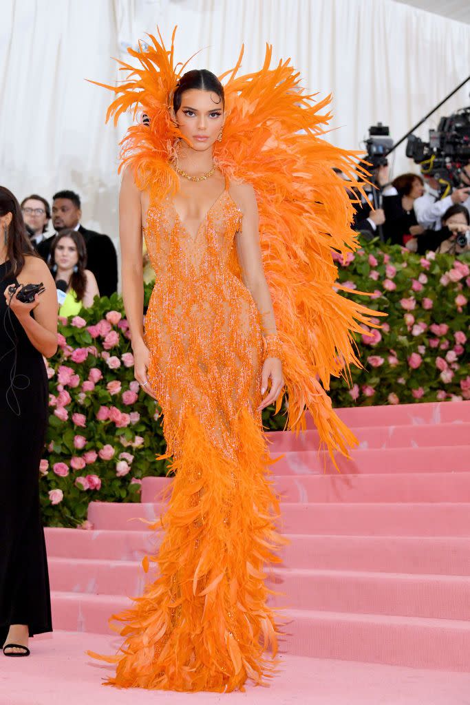
POLYGON ((58 191, 52 208, 44 197, 32 194, 23 199, 21 210, 31 245, 63 290, 61 316, 75 315, 82 306, 91 306, 95 296, 111 296, 118 290, 116 249, 108 235, 82 226, 77 193, 58 191))

